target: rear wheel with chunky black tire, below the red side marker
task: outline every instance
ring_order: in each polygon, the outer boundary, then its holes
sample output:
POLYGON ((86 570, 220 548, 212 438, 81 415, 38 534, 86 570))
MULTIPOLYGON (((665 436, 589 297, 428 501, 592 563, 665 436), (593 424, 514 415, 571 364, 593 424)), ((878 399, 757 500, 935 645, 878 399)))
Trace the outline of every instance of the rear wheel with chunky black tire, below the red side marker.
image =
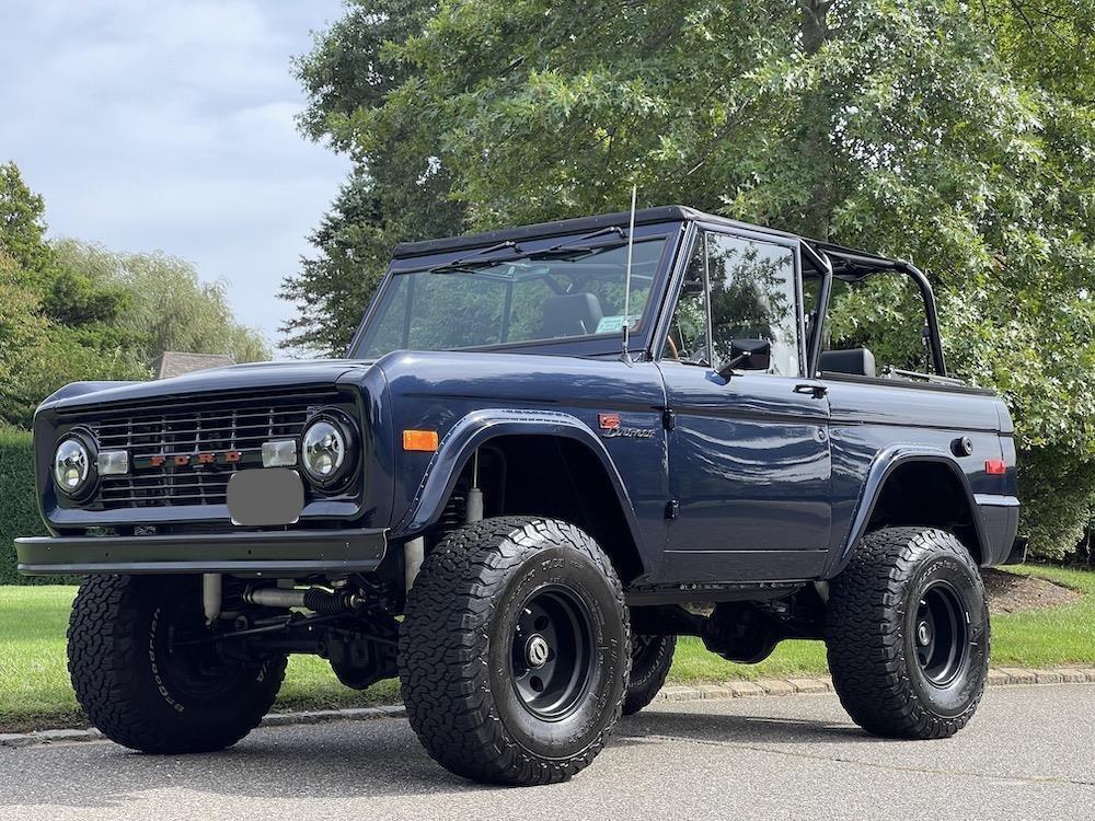
POLYGON ((868 534, 833 581, 829 668, 841 704, 868 732, 953 736, 989 671, 989 610, 977 565, 950 533, 868 534))

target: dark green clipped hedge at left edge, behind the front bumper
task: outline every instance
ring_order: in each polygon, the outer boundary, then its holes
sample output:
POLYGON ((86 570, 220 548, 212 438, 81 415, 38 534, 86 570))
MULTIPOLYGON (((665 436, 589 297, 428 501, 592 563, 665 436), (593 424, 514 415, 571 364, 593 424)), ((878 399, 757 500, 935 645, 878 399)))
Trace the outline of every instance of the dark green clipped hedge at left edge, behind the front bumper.
POLYGON ((45 534, 34 492, 31 435, 23 430, 0 429, 0 585, 51 581, 26 578, 15 571, 15 536, 45 534))

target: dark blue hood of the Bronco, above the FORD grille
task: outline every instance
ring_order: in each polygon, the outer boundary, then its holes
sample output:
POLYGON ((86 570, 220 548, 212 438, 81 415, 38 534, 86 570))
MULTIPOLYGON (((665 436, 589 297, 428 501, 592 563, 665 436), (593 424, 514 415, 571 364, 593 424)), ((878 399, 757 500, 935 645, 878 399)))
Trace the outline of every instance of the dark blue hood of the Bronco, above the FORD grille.
POLYGON ((364 359, 252 362, 194 371, 182 377, 149 382, 73 382, 49 396, 42 403, 41 408, 64 409, 92 403, 99 405, 164 396, 204 395, 221 391, 331 386, 343 374, 354 370, 365 370, 371 363, 364 359))

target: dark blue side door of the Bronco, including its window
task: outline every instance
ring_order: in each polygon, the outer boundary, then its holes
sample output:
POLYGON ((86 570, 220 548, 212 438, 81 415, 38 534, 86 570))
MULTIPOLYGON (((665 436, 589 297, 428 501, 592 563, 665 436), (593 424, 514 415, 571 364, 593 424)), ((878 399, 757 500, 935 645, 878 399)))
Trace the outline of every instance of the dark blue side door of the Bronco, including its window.
POLYGON ((806 579, 825 565, 829 403, 803 375, 800 304, 794 241, 698 232, 659 362, 676 510, 667 580, 806 579), (721 377, 744 339, 770 343, 770 366, 721 377))

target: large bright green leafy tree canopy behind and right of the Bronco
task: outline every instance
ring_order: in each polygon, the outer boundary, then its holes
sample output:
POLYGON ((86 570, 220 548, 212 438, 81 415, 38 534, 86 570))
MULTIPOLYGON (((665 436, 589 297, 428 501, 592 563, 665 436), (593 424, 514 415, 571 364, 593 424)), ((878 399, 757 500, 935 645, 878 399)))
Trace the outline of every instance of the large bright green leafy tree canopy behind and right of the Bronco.
MULTIPOLYGON (((358 3, 301 63, 306 128, 357 161, 367 224, 403 220, 373 250, 621 209, 634 183, 913 259, 952 369, 1012 408, 1024 527, 1060 555, 1054 517, 1095 488, 1093 25, 1086 0, 358 3), (408 222, 423 198, 453 222, 408 222)), ((289 296, 348 293, 330 262, 289 296)), ((890 325, 892 301, 850 299, 842 333, 890 325)))

